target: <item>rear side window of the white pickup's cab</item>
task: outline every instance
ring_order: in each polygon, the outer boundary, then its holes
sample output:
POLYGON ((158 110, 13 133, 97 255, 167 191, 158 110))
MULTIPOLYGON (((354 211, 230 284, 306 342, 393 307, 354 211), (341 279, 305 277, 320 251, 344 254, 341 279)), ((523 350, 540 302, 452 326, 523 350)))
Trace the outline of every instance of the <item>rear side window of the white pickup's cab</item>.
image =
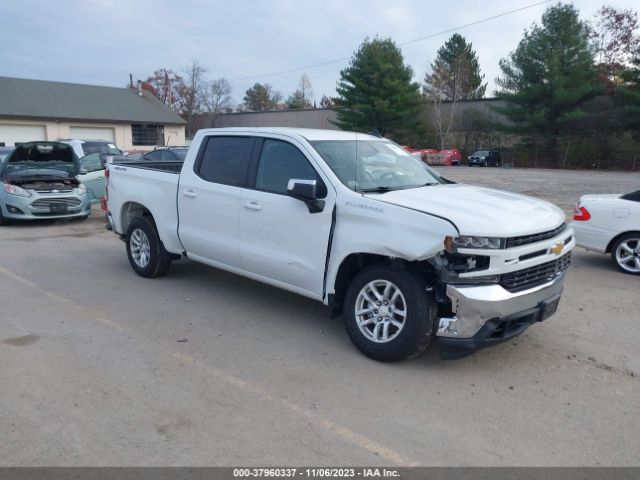
POLYGON ((243 186, 253 143, 250 137, 209 137, 196 165, 196 174, 208 182, 243 186))

